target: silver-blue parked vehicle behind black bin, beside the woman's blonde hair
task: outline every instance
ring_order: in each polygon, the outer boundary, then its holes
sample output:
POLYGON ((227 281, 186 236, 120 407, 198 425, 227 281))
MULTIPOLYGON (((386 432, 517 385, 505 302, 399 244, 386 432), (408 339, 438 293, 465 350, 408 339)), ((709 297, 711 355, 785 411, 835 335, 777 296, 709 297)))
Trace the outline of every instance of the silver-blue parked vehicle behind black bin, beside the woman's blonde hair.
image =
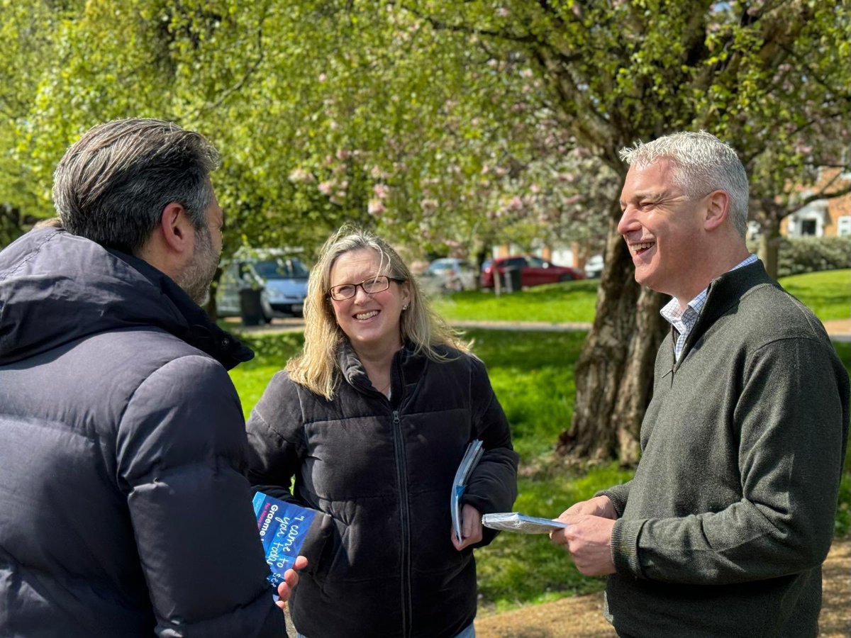
POLYGON ((240 314, 239 291, 243 288, 260 291, 266 322, 274 316, 302 316, 309 271, 294 254, 280 248, 246 250, 223 261, 221 268, 215 295, 219 316, 240 314))

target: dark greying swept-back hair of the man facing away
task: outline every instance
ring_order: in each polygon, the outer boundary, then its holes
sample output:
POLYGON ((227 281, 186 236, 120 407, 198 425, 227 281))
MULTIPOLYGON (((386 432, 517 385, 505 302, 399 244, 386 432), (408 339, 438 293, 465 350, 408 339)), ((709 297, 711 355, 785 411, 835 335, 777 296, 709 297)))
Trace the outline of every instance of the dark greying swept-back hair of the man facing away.
POLYGON ((179 203, 196 229, 213 202, 211 171, 220 156, 203 135, 174 122, 131 118, 89 129, 54 171, 62 225, 109 248, 137 253, 179 203))

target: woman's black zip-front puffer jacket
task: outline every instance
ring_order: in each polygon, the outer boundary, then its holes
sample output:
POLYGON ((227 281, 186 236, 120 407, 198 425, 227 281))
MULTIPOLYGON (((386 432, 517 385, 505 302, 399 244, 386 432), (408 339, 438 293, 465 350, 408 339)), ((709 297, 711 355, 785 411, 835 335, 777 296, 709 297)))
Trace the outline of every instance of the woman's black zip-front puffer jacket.
MULTIPOLYGON (((472 550, 450 541, 454 473, 481 438, 486 452, 463 500, 483 513, 511 510, 517 454, 483 363, 449 354, 454 361, 436 363, 399 350, 388 401, 346 346, 334 401, 277 373, 254 408, 249 479, 286 496, 295 476, 295 499, 334 521, 290 601, 309 638, 448 638, 476 615, 472 550)), ((493 538, 486 529, 482 544, 493 538)))

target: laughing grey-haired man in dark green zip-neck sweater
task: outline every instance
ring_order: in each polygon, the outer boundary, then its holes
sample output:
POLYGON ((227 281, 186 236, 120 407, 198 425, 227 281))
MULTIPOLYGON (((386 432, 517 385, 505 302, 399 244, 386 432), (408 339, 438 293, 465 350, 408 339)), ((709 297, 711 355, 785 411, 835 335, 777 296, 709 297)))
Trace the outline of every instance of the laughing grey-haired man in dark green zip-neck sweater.
POLYGON ((848 374, 819 320, 745 247, 733 149, 678 133, 621 151, 618 230, 672 299, 635 477, 552 534, 624 638, 816 636, 848 438, 848 374))

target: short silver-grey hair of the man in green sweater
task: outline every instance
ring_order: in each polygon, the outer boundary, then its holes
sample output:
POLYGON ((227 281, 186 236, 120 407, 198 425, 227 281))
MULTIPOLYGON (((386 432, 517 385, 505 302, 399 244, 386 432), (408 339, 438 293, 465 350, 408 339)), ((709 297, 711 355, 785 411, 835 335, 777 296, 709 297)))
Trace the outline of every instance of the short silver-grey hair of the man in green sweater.
POLYGON ((620 159, 630 166, 644 168, 660 159, 671 161, 673 179, 683 193, 697 199, 711 191, 726 191, 730 198, 730 219, 744 237, 747 231, 748 181, 745 167, 736 151, 705 131, 665 135, 647 144, 620 150, 620 159))

